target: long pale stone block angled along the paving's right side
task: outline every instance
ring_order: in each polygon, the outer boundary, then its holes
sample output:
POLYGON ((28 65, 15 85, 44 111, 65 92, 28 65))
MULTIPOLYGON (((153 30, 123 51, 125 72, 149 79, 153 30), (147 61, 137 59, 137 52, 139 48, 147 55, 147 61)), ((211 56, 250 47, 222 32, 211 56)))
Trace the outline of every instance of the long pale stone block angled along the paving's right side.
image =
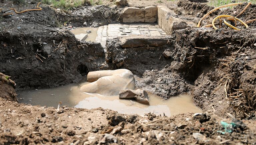
POLYGON ((171 35, 172 31, 185 29, 188 27, 187 23, 180 18, 175 18, 177 14, 167 8, 166 6, 157 6, 157 18, 158 25, 166 32, 167 35, 171 35))

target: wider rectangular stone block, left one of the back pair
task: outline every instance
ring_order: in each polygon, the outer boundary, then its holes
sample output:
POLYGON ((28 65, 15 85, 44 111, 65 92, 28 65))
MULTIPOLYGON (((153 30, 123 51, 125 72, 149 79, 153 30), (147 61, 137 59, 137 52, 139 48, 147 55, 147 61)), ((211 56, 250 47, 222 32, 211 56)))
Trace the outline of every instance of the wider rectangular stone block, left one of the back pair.
POLYGON ((122 13, 124 23, 145 22, 145 9, 126 7, 122 13))

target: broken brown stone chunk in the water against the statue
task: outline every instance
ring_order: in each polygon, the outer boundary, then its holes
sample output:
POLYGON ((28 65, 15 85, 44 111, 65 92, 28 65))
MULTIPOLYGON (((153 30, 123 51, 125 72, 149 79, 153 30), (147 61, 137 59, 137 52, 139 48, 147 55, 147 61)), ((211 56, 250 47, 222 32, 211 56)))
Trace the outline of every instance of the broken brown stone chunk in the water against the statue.
POLYGON ((139 103, 149 105, 149 97, 148 93, 144 90, 137 89, 137 90, 120 90, 119 92, 119 99, 135 99, 139 103))

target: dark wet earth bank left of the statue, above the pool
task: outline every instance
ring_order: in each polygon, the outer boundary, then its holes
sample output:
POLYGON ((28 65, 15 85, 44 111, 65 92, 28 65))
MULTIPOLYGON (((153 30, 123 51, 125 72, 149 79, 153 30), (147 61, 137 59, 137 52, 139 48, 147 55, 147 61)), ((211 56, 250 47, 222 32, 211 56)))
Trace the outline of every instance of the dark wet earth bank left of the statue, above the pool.
POLYGON ((68 30, 2 32, 2 36, 1 71, 13 76, 17 89, 78 82, 104 62, 99 43, 81 43, 68 30))

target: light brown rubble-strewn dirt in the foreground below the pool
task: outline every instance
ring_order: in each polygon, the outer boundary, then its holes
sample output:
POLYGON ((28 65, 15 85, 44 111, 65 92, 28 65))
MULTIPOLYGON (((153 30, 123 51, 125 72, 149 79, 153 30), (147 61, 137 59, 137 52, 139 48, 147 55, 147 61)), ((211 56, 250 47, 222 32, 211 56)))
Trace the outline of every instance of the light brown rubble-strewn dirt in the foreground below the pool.
MULTIPOLYGON (((28 106, 0 98, 1 144, 216 144, 255 143, 255 127, 246 121, 232 133, 225 132, 221 118, 212 113, 173 117, 122 115, 111 110, 61 106, 28 106), (17 109, 19 108, 19 109, 17 109), (27 116, 30 117, 27 117, 27 116), (133 138, 133 139, 131 139, 133 138)), ((57 104, 56 104, 57 105, 57 104)))

